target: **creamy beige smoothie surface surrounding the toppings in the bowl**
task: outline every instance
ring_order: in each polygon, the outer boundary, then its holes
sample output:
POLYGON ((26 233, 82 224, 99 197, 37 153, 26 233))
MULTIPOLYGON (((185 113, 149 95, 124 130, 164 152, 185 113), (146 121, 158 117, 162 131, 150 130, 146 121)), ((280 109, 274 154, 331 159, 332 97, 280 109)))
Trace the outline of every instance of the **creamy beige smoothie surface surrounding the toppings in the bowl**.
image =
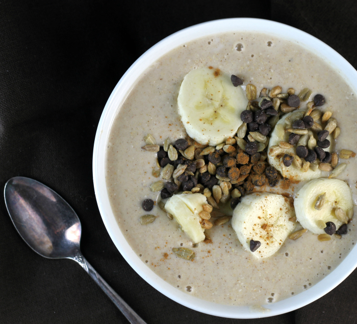
MULTIPOLYGON (((280 85, 283 92, 296 93, 308 87, 326 98, 322 111, 338 120, 341 134, 336 150, 357 147, 355 133, 356 94, 338 71, 299 44, 255 33, 212 35, 189 42, 163 56, 145 71, 118 107, 112 125, 107 156, 106 181, 111 206, 126 240, 142 261, 162 279, 187 294, 226 305, 262 305, 298 294, 319 282, 346 257, 357 238, 354 219, 341 239, 320 242, 305 233, 298 240, 287 239, 273 256, 259 260, 240 244, 230 222, 206 230, 212 242, 193 246, 190 238, 158 207, 160 192, 149 185, 158 180, 151 175, 156 153, 141 149, 143 137, 152 134, 157 144, 169 137, 173 143, 186 136, 177 111, 177 95, 185 75, 194 68, 213 66, 228 75, 237 75, 243 85, 280 85), (154 209, 145 212, 142 201, 151 198, 154 209), (158 218, 141 225, 139 218, 158 218), (172 248, 194 250, 193 261, 178 258, 172 248)), ((311 99, 310 99, 311 100, 311 99)), ((347 180, 356 204, 356 160, 344 160, 347 168, 338 178, 347 180)), ((294 195, 303 185, 296 184, 294 195)), ((262 189, 263 190, 263 189, 262 189)), ((265 186, 264 191, 282 193, 265 186)))

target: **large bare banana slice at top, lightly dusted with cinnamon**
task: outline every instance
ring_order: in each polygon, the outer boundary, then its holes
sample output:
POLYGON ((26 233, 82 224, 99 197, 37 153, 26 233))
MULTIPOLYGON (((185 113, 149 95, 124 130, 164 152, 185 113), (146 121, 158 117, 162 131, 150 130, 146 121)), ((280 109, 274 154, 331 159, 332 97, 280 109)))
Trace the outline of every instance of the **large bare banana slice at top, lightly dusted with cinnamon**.
POLYGON ((187 134, 211 146, 233 137, 247 103, 242 88, 233 86, 230 76, 208 67, 190 71, 177 98, 187 134))

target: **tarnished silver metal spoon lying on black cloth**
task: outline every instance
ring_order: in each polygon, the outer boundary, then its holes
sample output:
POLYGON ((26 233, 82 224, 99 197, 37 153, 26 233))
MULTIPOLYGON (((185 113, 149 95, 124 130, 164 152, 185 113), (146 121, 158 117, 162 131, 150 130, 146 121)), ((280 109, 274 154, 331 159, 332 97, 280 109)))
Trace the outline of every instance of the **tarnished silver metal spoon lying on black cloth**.
POLYGON ((62 197, 44 184, 25 177, 6 182, 4 194, 17 232, 35 252, 48 259, 78 262, 132 324, 146 324, 83 257, 81 222, 62 197))

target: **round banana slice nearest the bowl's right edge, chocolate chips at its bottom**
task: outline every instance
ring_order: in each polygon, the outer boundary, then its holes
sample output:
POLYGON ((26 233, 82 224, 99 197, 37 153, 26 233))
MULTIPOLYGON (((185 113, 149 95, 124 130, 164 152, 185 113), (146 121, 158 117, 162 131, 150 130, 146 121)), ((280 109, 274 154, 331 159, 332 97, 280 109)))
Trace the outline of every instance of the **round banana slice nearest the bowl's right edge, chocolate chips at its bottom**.
POLYGON ((318 226, 319 220, 333 222, 336 228, 343 224, 335 216, 336 208, 342 208, 349 218, 353 214, 351 190, 345 181, 339 179, 320 178, 305 183, 296 193, 294 206, 297 220, 314 234, 325 233, 318 226), (317 198, 324 193, 325 202, 320 210, 316 210, 317 198))

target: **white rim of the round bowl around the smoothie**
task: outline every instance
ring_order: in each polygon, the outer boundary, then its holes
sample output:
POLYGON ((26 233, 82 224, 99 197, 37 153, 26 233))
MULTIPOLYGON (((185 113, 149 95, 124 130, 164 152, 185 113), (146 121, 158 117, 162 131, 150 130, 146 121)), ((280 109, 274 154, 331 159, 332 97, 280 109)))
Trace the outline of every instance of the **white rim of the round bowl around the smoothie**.
POLYGON ((167 297, 175 300, 175 302, 202 313, 230 318, 258 318, 293 311, 314 302, 314 300, 334 289, 356 268, 356 247, 349 252, 345 260, 343 260, 333 272, 328 274, 324 279, 322 279, 315 286, 311 287, 309 290, 303 291, 295 296, 281 300, 274 304, 265 305, 264 307, 270 311, 262 312, 249 307, 215 304, 190 296, 174 288, 161 279, 161 277, 150 270, 141 261, 131 246, 126 242, 120 231, 110 206, 106 187, 105 156, 110 129, 119 107, 125 100, 137 78, 140 77, 142 72, 145 71, 146 68, 154 63, 158 58, 176 47, 180 47, 181 45, 196 38, 233 31, 255 31, 298 42, 302 47, 315 53, 317 56, 333 66, 335 70, 338 70, 346 82, 351 85, 354 92, 357 92, 357 72, 351 64, 349 64, 340 54, 322 41, 293 27, 269 20, 232 18, 209 21, 186 28, 168 36, 146 51, 135 61, 129 70, 126 71, 114 88, 103 113, 101 114, 95 136, 93 151, 93 181, 99 211, 111 239, 125 260, 147 283, 167 297))

